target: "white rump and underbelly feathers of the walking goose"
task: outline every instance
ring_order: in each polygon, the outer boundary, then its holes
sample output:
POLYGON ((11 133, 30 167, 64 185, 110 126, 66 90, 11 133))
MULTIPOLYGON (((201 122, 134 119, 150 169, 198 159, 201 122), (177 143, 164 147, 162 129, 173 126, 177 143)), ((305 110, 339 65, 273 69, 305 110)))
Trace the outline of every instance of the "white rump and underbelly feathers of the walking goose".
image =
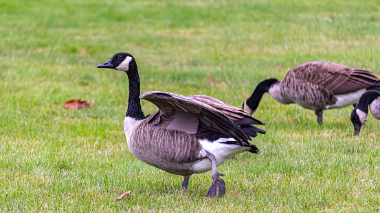
MULTIPOLYGON (((230 160, 232 157, 243 151, 251 149, 250 147, 241 147, 239 145, 230 145, 221 142, 235 141, 234 138, 219 138, 218 140, 199 140, 203 149, 201 150, 201 155, 205 156, 207 153, 212 153, 216 159, 216 166, 219 166, 230 160)), ((205 158, 197 163, 195 163, 192 169, 196 173, 205 173, 211 170, 211 163, 208 158, 205 158)))

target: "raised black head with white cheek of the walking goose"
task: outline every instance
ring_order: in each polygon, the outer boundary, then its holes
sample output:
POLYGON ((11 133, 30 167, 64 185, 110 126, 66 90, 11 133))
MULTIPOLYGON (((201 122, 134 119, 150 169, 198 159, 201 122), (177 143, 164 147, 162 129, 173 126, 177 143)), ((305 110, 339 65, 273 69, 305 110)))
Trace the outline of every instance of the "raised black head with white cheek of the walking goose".
POLYGON ((131 68, 131 65, 135 65, 135 58, 129 53, 116 53, 113 57, 104 62, 103 64, 99 64, 98 68, 113 68, 118 71, 128 72, 131 68))

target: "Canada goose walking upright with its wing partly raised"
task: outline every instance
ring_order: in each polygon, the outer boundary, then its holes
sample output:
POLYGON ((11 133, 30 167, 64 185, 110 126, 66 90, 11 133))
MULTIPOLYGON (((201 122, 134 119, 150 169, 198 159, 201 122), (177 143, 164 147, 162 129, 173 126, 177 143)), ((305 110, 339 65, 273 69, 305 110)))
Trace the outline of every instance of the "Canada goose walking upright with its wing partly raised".
POLYGON ((185 97, 159 91, 139 95, 137 64, 129 53, 116 53, 98 68, 113 68, 128 75, 128 110, 124 119, 128 147, 142 162, 182 175, 183 192, 192 175, 211 170, 213 181, 205 196, 223 197, 225 183, 219 177, 223 174, 216 167, 238 153, 258 153, 256 145, 248 140, 249 136, 265 133, 252 124, 264 123, 244 110, 204 95, 185 97), (140 99, 152 102, 159 110, 144 116, 140 99))

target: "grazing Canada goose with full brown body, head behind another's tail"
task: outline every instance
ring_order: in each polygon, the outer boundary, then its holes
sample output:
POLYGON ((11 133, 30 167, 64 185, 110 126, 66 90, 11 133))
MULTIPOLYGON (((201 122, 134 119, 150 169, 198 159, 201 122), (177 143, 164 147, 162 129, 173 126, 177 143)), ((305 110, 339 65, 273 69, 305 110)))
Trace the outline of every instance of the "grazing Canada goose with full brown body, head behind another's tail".
POLYGON ((376 75, 342 64, 307 62, 291 69, 282 82, 274 78, 260 82, 243 103, 243 109, 254 114, 262 95, 268 92, 280 103, 297 103, 314 110, 321 125, 323 110, 353 105, 367 89, 380 88, 380 79, 376 75))

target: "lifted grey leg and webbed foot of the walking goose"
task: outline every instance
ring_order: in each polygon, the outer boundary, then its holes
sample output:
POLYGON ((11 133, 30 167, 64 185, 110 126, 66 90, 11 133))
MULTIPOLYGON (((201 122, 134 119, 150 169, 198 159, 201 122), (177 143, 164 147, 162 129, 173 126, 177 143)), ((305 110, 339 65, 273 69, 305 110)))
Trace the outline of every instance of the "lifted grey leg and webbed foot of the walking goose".
POLYGON ((223 197, 225 195, 225 183, 219 176, 224 175, 218 173, 218 170, 216 169, 215 156, 213 154, 208 154, 207 157, 211 162, 211 175, 213 181, 210 188, 208 188, 205 197, 223 197))

